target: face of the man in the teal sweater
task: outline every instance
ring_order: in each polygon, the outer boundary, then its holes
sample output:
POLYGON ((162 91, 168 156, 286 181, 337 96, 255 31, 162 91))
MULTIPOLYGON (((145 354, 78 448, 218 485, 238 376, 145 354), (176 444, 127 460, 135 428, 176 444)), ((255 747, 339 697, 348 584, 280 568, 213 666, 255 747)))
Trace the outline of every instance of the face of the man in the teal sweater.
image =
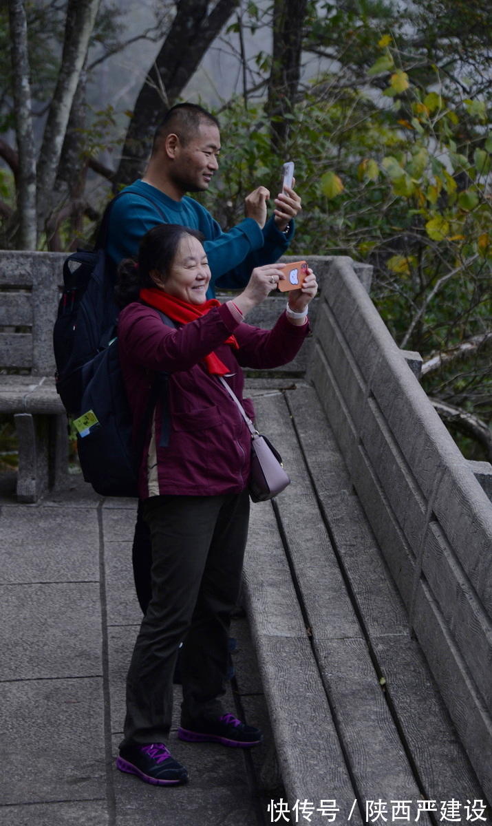
POLYGON ((220 132, 212 123, 201 123, 183 146, 178 143, 171 169, 173 183, 185 192, 203 192, 219 169, 220 132))

